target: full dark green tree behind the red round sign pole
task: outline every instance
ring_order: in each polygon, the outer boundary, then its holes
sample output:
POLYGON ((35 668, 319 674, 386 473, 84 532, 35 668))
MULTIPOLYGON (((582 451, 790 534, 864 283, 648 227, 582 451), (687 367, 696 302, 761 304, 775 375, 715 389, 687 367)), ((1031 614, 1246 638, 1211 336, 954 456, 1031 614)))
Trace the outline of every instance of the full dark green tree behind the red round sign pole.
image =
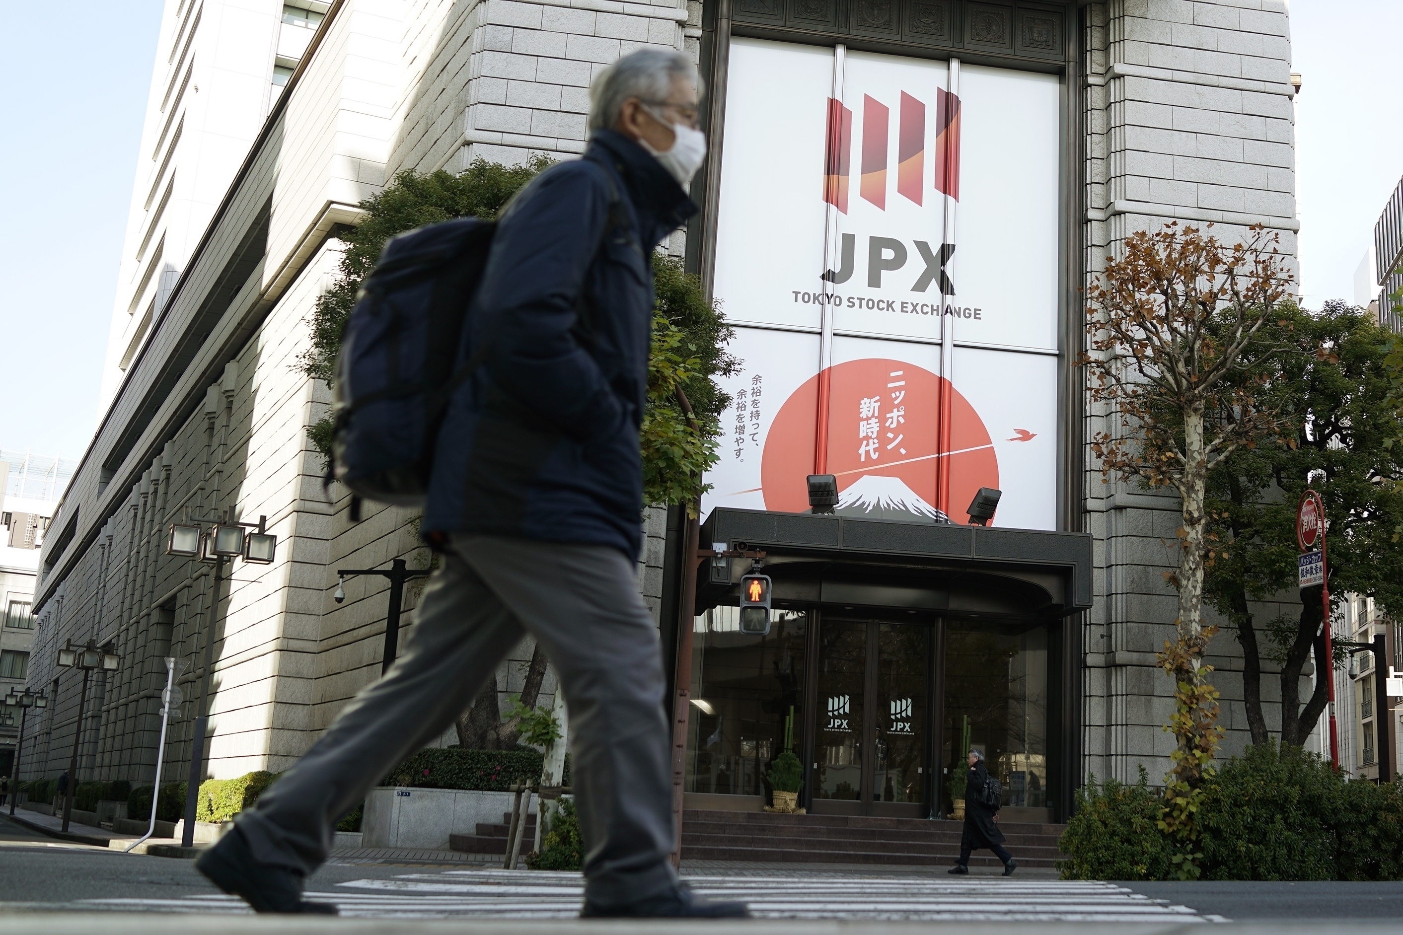
POLYGON ((1403 446, 1393 444, 1403 419, 1392 402, 1390 335, 1368 313, 1329 301, 1315 314, 1282 308, 1271 327, 1289 352, 1264 362, 1261 394, 1288 428, 1277 443, 1233 451, 1209 478, 1222 558, 1208 571, 1207 597, 1243 646, 1253 743, 1268 739, 1260 688, 1268 656, 1281 662, 1281 743, 1301 746, 1329 701, 1324 678, 1303 704, 1299 697, 1305 663, 1331 664, 1320 589, 1301 589, 1294 618, 1258 621, 1250 601, 1296 586, 1296 503, 1312 486, 1329 521, 1331 599, 1368 594, 1385 613, 1403 613, 1403 446))

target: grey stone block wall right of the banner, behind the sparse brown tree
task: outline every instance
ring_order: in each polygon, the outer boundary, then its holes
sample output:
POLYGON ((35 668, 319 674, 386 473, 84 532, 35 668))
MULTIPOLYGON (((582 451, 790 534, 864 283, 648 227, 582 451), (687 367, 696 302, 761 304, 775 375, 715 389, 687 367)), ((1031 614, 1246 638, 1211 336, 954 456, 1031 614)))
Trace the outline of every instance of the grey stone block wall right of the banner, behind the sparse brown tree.
MULTIPOLYGON (((1261 224, 1295 269, 1294 90, 1282 0, 1110 0, 1085 10, 1086 268, 1135 231, 1205 226, 1228 244, 1261 224)), ((1087 435, 1122 432, 1092 407, 1087 435)), ((1106 481, 1086 454, 1086 528, 1096 537, 1096 608, 1083 632, 1086 771, 1124 781, 1169 770, 1169 677, 1155 653, 1173 636, 1176 498, 1106 481)), ((1258 625, 1298 613, 1294 594, 1256 606, 1258 625)), ((1223 754, 1249 743, 1242 650, 1222 627, 1209 650, 1222 691, 1223 754)), ((1280 680, 1263 673, 1268 728, 1280 728, 1280 680)), ((1306 680, 1309 681, 1309 678, 1306 680)), ((1309 691, 1309 688, 1305 688, 1309 691)))

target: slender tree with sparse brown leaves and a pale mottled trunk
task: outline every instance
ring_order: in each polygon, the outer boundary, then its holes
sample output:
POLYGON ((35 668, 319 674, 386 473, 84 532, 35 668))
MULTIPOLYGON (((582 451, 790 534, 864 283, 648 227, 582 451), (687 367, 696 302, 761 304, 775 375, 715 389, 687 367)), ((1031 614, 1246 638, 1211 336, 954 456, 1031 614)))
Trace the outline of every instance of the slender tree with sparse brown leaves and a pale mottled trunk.
POLYGON ((1251 374, 1277 346, 1263 334, 1287 300, 1289 273, 1277 237, 1260 226, 1232 247, 1177 221, 1125 238, 1120 257, 1087 289, 1089 394, 1104 404, 1108 430, 1092 451, 1106 475, 1180 499, 1177 639, 1166 641, 1160 666, 1174 681, 1176 736, 1169 816, 1191 837, 1191 793, 1202 784, 1222 729, 1218 692, 1204 664, 1204 575, 1214 558, 1205 493, 1208 475, 1232 451, 1271 437, 1277 415, 1256 394, 1251 374))

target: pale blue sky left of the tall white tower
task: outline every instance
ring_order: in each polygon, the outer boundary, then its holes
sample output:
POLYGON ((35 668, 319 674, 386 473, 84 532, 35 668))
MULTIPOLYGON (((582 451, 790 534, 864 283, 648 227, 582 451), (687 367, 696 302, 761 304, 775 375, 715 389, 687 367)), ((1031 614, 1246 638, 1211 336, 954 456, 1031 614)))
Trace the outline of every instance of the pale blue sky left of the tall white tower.
POLYGON ((76 458, 97 425, 160 0, 0 0, 0 447, 76 458))

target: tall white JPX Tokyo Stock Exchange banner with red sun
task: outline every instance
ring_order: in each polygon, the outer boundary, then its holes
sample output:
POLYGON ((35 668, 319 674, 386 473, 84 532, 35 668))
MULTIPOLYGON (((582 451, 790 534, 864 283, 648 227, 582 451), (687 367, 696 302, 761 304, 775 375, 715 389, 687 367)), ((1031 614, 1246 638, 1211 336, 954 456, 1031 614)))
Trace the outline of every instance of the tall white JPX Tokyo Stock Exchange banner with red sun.
POLYGON ((737 38, 716 296, 742 373, 704 509, 1056 524, 1058 79, 737 38))

